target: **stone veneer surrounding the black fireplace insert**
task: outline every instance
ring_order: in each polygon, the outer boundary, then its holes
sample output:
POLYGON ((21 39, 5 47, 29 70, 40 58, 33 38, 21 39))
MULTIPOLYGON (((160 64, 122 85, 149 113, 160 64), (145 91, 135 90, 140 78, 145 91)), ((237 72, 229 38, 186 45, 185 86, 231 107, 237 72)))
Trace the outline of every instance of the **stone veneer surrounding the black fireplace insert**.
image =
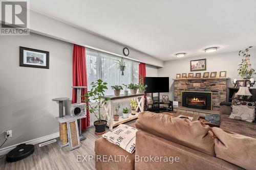
POLYGON ((220 110, 220 103, 226 101, 227 79, 175 79, 174 100, 181 106, 181 91, 212 92, 212 110, 220 110))

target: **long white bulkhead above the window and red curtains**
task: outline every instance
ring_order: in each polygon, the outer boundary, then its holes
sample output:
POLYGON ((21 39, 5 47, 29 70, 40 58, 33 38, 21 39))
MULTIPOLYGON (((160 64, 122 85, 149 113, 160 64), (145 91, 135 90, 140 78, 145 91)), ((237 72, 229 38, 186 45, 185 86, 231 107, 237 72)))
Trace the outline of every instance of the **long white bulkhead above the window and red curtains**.
MULTIPOLYGON (((111 53, 123 55, 123 47, 125 47, 123 44, 72 27, 66 23, 49 18, 34 11, 31 11, 30 18, 30 29, 35 33, 83 46, 92 46, 111 53)), ((129 47, 129 51, 130 58, 158 67, 163 66, 163 61, 155 57, 139 52, 131 47, 129 47)))

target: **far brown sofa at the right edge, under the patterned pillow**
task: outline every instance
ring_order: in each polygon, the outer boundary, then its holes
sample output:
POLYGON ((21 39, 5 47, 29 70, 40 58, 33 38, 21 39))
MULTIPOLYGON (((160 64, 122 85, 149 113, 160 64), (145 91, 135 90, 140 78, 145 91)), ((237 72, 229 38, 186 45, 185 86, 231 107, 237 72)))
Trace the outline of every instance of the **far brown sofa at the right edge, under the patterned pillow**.
POLYGON ((231 112, 231 102, 220 103, 220 128, 256 138, 256 123, 249 123, 229 118, 231 112))

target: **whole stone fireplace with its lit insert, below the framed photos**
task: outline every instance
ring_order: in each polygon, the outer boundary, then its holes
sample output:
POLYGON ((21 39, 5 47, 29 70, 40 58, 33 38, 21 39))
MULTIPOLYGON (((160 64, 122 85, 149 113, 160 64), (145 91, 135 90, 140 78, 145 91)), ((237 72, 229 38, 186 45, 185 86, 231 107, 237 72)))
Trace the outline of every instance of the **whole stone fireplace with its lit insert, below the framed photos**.
MULTIPOLYGON (((228 78, 174 79, 174 100, 178 101, 179 106, 183 107, 202 110, 220 110, 220 103, 226 101, 227 79, 228 78), (209 103, 204 103, 207 97, 202 97, 202 93, 199 96, 195 96, 195 99, 194 97, 188 97, 186 99, 187 101, 182 101, 182 99, 184 99, 182 98, 184 91, 197 92, 197 94, 200 92, 211 93, 211 108, 208 106, 209 103), (186 102, 186 104, 183 102, 186 102)), ((209 98, 208 96, 207 99, 209 100, 209 98)))

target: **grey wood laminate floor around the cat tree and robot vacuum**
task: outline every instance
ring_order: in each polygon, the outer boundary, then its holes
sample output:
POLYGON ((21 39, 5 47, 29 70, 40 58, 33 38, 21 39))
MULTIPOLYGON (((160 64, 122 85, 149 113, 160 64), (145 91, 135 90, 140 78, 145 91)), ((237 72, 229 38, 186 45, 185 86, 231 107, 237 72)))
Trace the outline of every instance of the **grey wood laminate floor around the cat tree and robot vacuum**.
MULTIPOLYGON (((136 119, 125 124, 129 125, 134 122, 136 122, 136 119)), ((23 160, 10 163, 5 158, 1 159, 0 169, 95 169, 94 141, 101 136, 96 136, 94 130, 94 127, 89 127, 82 133, 87 139, 81 141, 81 147, 78 149, 73 151, 70 151, 69 147, 60 149, 57 142, 45 145, 44 147, 38 147, 38 144, 36 144, 35 152, 23 160), (90 162, 77 162, 77 155, 92 155, 93 159, 90 162)))

